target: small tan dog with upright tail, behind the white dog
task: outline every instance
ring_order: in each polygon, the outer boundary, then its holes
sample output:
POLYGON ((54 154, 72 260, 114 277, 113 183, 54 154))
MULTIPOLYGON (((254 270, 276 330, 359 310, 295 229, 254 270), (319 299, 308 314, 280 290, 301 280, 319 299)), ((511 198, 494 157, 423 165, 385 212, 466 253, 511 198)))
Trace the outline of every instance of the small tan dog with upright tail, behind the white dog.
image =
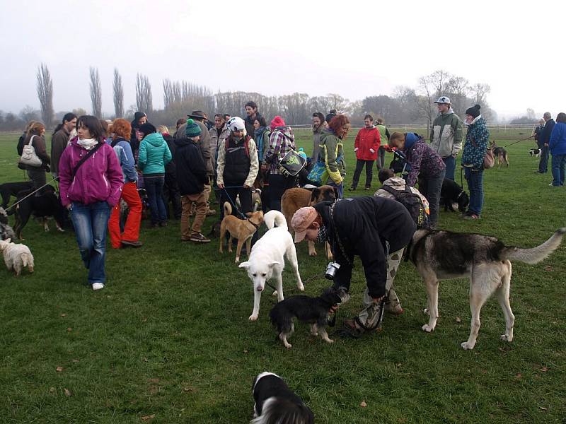
POLYGON ((248 252, 248 257, 251 252, 252 236, 260 228, 263 222, 263 212, 248 212, 246 213, 248 218, 240 219, 232 215, 232 206, 229 202, 224 202, 224 219, 220 223, 220 253, 222 251, 222 244, 224 242, 224 236, 226 231, 229 232, 230 238, 228 240, 228 252, 232 252, 232 239, 238 239, 238 246, 236 247, 236 264, 240 261, 240 252, 242 250, 243 243, 246 242, 246 249, 248 252))

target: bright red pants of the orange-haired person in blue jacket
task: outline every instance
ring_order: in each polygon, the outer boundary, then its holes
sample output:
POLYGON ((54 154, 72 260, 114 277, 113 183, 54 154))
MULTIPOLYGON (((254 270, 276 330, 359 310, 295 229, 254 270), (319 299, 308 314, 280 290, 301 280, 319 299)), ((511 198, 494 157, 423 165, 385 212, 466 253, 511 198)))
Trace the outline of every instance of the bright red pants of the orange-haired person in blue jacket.
POLYGON ((108 221, 108 231, 110 231, 110 242, 114 249, 122 247, 122 240, 137 242, 139 239, 139 224, 141 223, 141 199, 139 199, 135 182, 124 184, 120 199, 124 199, 127 203, 129 212, 124 232, 120 234, 120 201, 112 208, 112 215, 110 215, 110 220, 108 221))

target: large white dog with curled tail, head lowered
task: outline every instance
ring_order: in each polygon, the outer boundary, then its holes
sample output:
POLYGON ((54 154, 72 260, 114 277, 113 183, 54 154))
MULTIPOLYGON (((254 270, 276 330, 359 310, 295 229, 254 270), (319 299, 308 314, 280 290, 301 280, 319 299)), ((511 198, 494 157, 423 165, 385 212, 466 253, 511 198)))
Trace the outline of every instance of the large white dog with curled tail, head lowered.
MULTIPOLYGON (((261 293, 265 288, 265 282, 275 278, 277 300, 283 300, 283 272, 284 257, 291 263, 296 276, 296 287, 304 291, 304 285, 299 275, 299 265, 296 261, 296 250, 291 233, 287 230, 287 221, 279 211, 269 211, 264 216, 265 225, 269 230, 252 247, 250 258, 240 264, 240 268, 246 268, 248 276, 253 283, 253 312, 250 321, 258 319, 260 312, 261 293), (277 227, 274 225, 277 224, 277 227)), ((275 293, 273 293, 275 295, 275 293)))

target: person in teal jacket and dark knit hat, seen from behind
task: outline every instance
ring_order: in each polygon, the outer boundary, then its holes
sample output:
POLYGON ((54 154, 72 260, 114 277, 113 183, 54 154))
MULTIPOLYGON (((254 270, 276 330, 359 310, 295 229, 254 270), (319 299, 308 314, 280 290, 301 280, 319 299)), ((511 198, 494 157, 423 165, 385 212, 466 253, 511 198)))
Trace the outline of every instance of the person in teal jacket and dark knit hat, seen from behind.
POLYGON ((167 226, 167 212, 163 202, 165 165, 171 160, 171 151, 155 126, 146 122, 139 126, 143 135, 139 144, 138 167, 144 174, 144 185, 149 201, 151 228, 167 226))

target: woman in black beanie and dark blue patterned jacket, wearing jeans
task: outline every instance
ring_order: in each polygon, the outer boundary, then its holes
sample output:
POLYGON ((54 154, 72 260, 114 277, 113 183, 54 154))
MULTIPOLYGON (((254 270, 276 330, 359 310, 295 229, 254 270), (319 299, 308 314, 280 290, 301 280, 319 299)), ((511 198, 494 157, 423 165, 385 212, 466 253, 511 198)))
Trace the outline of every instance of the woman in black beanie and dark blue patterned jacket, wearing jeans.
POLYGON ((463 218, 480 219, 483 210, 483 158, 490 139, 490 131, 480 114, 480 105, 468 107, 464 124, 468 126, 468 132, 462 153, 462 166, 468 182, 470 204, 463 218))

